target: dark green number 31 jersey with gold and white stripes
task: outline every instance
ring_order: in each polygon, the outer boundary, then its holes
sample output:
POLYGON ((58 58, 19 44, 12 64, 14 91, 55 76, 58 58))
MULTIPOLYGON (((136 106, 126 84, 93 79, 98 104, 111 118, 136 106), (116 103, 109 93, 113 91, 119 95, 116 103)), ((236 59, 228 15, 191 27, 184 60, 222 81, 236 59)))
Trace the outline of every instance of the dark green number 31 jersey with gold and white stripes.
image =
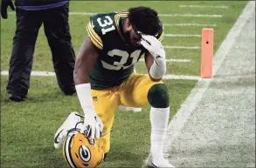
MULTIPOLYGON (((134 71, 146 51, 142 46, 127 44, 123 35, 123 22, 128 12, 112 12, 90 17, 86 30, 99 57, 89 73, 92 89, 102 90, 120 85, 134 71)), ((159 39, 163 38, 163 33, 159 39)))

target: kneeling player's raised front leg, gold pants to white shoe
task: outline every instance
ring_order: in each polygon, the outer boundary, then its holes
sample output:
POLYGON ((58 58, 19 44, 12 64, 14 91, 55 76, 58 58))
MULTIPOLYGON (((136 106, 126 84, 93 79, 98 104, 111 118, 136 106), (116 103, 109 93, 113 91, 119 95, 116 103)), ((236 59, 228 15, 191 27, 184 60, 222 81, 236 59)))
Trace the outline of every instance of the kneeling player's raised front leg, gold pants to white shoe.
POLYGON ((121 104, 132 107, 150 105, 150 154, 147 166, 172 167, 163 158, 163 141, 170 116, 169 91, 163 81, 153 82, 146 75, 134 73, 122 84, 121 104))

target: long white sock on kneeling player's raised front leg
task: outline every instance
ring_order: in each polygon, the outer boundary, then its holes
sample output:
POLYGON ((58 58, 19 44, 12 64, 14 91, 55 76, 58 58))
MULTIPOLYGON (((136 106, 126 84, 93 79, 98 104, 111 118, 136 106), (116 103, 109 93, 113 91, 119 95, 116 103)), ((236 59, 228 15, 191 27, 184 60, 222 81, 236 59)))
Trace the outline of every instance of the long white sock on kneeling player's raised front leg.
POLYGON ((151 147, 150 156, 153 160, 163 157, 163 141, 169 122, 170 107, 150 109, 151 147))

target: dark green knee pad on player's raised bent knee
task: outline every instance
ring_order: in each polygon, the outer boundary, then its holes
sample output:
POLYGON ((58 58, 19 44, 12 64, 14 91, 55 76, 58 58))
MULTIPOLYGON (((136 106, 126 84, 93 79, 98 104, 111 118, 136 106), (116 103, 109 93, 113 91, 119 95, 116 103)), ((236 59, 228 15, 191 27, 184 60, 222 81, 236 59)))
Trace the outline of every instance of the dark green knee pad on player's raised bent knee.
POLYGON ((148 92, 148 101, 152 107, 169 107, 169 91, 165 84, 154 84, 148 92))

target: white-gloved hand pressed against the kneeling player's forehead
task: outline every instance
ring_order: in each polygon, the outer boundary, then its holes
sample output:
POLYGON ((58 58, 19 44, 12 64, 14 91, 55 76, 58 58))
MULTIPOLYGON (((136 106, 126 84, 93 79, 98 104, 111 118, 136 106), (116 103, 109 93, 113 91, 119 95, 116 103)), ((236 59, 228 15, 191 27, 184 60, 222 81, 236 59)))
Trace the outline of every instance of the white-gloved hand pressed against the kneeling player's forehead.
MULTIPOLYGON (((163 50, 163 46, 156 37, 149 35, 142 35, 141 44, 143 47, 152 54, 155 59, 164 59, 165 58, 165 50, 163 50)), ((160 61, 160 60, 159 60, 160 61)))

